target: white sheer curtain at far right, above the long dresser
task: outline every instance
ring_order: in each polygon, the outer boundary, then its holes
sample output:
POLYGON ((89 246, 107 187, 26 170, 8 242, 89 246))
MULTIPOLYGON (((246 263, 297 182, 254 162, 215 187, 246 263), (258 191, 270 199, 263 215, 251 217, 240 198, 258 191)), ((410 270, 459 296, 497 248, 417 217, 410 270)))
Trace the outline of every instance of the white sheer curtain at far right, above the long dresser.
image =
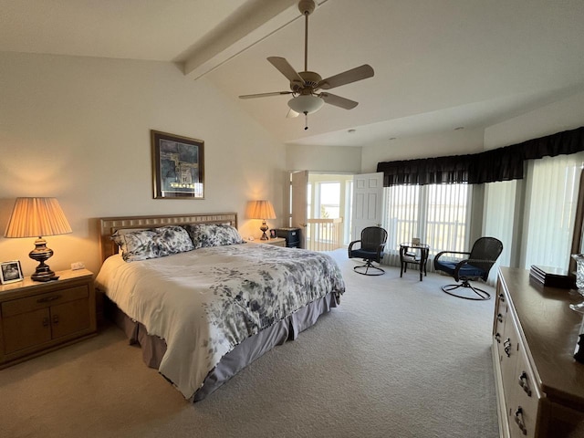
POLYGON ((523 267, 568 268, 584 152, 529 162, 523 267))

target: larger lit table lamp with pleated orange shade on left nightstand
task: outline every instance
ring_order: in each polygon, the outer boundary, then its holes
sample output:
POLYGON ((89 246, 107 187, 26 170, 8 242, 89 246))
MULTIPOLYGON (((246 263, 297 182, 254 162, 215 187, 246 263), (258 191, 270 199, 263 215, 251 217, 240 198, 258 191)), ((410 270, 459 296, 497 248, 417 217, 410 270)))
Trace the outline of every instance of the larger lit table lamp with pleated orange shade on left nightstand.
POLYGON ((39 262, 30 277, 35 281, 48 281, 55 278, 55 273, 45 263, 53 255, 53 250, 47 248, 47 241, 42 236, 72 232, 57 198, 16 198, 4 236, 38 237, 35 249, 28 254, 39 262))

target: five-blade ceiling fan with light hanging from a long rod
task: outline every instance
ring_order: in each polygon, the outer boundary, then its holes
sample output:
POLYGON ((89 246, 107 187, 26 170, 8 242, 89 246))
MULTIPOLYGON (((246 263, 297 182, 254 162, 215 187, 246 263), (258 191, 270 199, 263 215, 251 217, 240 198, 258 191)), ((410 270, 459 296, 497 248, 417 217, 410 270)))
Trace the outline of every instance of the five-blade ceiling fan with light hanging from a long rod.
MULTIPOLYGON (((350 70, 325 79, 314 71, 308 71, 308 16, 314 12, 314 0, 300 0, 298 2, 298 9, 305 17, 304 71, 297 72, 284 57, 268 57, 267 60, 290 81, 290 91, 246 94, 239 96, 239 98, 255 99, 291 94, 293 97, 288 100, 290 110, 288 111, 287 117, 297 117, 298 114, 304 114, 308 118, 308 114, 320 110, 325 103, 345 110, 352 110, 359 102, 341 98, 327 91, 318 92, 318 90, 334 89, 335 87, 350 84, 351 82, 371 78, 374 75, 373 68, 368 64, 363 64, 360 67, 351 68, 350 70)), ((308 125, 305 125, 304 129, 308 130, 308 125)))

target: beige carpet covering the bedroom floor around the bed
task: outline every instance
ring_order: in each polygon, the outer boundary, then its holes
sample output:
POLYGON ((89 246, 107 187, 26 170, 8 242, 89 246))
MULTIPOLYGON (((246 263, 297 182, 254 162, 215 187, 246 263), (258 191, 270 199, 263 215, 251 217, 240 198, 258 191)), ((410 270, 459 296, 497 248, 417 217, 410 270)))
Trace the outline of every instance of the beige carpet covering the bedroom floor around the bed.
MULTIPOLYGON (((190 404, 118 328, 0 370, 2 437, 498 436, 494 300, 446 276, 360 276, 344 251, 341 306, 190 404)), ((489 290, 493 290, 489 288, 489 290)))

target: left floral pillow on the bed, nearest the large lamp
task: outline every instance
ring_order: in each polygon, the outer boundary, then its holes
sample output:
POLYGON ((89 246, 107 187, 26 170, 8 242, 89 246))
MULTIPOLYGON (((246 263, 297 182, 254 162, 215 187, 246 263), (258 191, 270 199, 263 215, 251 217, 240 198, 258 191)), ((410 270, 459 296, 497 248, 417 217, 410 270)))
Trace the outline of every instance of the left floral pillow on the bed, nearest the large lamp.
POLYGON ((168 225, 151 230, 118 230, 111 235, 126 262, 147 260, 193 250, 193 242, 182 226, 168 225))

